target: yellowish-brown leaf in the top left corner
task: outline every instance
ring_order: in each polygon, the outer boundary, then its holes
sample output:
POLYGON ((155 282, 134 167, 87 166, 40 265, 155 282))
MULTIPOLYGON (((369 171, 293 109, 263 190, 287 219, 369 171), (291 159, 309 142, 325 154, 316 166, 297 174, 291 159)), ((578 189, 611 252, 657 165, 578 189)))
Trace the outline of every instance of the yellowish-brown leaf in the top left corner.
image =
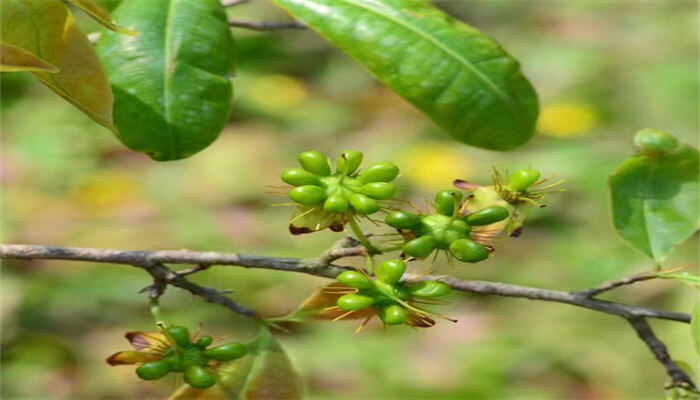
POLYGON ((112 126, 112 91, 92 43, 60 0, 0 1, 0 36, 58 72, 31 71, 99 124, 112 126))

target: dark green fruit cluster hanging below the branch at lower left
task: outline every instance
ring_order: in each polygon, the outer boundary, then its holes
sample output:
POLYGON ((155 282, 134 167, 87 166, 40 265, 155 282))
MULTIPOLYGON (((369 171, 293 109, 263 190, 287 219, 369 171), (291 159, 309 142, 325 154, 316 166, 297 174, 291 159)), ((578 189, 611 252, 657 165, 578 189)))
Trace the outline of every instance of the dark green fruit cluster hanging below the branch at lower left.
POLYGON ((164 329, 173 346, 157 361, 147 362, 136 368, 136 375, 147 381, 160 379, 171 372, 183 372, 185 382, 197 389, 206 389, 216 384, 216 375, 209 367, 210 361, 230 361, 243 357, 246 346, 242 343, 227 343, 209 347, 211 336, 203 336, 196 342, 184 326, 164 329))

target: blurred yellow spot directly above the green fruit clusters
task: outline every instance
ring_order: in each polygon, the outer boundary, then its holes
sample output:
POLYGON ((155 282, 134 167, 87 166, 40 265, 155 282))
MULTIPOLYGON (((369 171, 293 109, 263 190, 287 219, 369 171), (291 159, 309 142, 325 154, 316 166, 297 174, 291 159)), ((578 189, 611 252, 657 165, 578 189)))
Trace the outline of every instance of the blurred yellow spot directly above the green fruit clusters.
POLYGON ((467 158, 454 146, 422 142, 412 145, 397 157, 401 176, 422 189, 452 187, 456 178, 468 179, 472 173, 467 158))

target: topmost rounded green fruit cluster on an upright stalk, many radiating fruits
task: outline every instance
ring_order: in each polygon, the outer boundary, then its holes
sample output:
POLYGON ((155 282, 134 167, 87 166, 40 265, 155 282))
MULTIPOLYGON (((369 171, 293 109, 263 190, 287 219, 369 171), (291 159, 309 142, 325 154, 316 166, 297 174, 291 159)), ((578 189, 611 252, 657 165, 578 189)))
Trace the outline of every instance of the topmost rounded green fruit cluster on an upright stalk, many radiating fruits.
POLYGON ((345 150, 332 172, 323 153, 305 151, 299 154, 301 168, 284 170, 282 180, 295 186, 289 198, 298 204, 322 207, 332 214, 369 215, 379 211, 377 200, 388 200, 396 194, 396 185, 391 181, 399 174, 399 168, 382 161, 359 171, 361 162, 361 152, 345 150))

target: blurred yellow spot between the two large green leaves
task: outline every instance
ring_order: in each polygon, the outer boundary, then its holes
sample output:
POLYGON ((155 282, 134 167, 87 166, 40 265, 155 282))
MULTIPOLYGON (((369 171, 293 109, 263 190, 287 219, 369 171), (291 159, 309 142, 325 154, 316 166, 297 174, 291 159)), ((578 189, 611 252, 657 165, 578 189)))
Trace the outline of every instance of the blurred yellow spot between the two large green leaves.
POLYGON ((251 78, 246 88, 247 100, 263 111, 284 111, 309 98, 306 86, 291 76, 264 75, 251 78))

